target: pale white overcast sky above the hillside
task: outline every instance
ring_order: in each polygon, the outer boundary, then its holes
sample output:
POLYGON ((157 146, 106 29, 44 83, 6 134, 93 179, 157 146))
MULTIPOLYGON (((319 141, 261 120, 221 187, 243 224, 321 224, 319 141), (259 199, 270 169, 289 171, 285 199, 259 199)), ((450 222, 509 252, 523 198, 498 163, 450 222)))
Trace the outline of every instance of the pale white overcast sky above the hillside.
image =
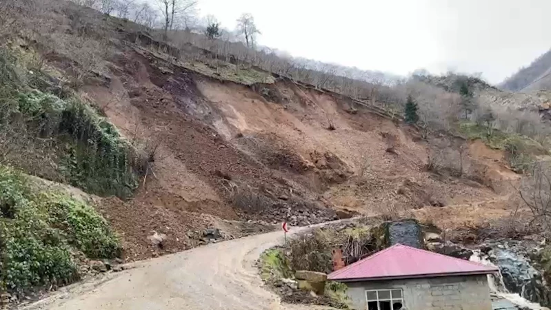
POLYGON ((408 74, 482 72, 490 83, 551 48, 551 0, 199 0, 233 29, 250 12, 259 43, 293 56, 408 74))

